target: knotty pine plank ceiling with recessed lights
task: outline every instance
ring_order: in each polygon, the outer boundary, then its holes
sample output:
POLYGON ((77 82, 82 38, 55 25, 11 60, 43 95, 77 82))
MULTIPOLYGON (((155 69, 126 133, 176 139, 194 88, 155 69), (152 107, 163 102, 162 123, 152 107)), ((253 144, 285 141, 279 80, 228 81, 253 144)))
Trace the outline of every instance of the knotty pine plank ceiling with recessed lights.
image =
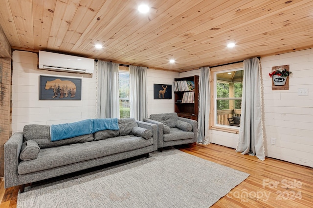
POLYGON ((13 49, 184 71, 312 48, 313 0, 1 0, 0 25, 13 49))

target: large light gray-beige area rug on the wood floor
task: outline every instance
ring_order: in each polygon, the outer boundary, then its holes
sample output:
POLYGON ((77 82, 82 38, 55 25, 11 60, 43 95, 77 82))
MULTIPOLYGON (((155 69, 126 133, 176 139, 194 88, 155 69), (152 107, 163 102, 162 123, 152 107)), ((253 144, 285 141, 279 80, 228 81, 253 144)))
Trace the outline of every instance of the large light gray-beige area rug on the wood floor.
POLYGON ((249 174, 169 149, 110 168, 26 187, 17 208, 208 208, 249 174))

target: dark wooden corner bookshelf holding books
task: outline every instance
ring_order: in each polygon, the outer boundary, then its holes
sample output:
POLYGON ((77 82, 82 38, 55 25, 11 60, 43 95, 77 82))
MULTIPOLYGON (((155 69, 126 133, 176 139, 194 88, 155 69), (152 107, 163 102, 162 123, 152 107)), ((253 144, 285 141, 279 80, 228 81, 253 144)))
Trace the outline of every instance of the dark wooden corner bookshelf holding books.
MULTIPOLYGON (((175 78, 175 81, 193 81, 195 88, 189 91, 174 91, 175 94, 175 112, 179 117, 198 120, 199 111, 199 76, 188 76, 183 78, 175 78), (180 102, 183 100, 184 93, 194 92, 193 102, 180 102), (180 101, 179 101, 180 100, 180 101), (178 102, 179 101, 179 102, 178 102)), ((175 83, 174 83, 175 86, 175 83)), ((175 89, 175 88, 174 88, 175 89)))

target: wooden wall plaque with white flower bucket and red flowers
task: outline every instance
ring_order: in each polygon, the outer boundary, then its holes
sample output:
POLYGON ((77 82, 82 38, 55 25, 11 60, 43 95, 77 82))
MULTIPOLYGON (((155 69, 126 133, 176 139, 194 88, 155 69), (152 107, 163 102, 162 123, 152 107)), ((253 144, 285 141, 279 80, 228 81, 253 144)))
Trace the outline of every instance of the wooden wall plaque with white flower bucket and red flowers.
POLYGON ((273 66, 268 74, 272 78, 272 90, 289 90, 289 65, 273 66))

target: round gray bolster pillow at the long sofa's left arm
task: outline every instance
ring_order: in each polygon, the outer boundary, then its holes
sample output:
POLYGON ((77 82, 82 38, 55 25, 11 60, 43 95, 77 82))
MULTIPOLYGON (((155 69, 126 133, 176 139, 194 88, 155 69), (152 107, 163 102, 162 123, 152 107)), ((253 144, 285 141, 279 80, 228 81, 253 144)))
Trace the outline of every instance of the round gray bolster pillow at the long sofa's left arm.
POLYGON ((36 159, 39 152, 40 148, 37 142, 35 142, 34 140, 25 141, 22 144, 20 159, 23 161, 36 159))

